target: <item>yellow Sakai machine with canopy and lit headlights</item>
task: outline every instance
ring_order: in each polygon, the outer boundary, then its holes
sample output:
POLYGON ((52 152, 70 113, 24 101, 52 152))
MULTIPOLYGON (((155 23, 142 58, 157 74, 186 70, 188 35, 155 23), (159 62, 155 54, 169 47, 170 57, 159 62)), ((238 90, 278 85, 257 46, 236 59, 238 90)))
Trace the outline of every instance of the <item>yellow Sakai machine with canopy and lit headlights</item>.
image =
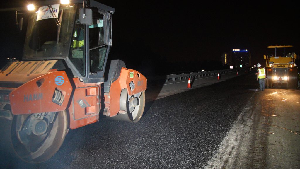
POLYGON ((297 55, 295 53, 284 54, 286 47, 293 46, 268 46, 275 48, 275 56, 265 56, 267 81, 266 87, 273 88, 274 85, 286 85, 287 88, 298 86, 298 66, 295 64, 297 55), (283 48, 283 56, 277 56, 277 48, 283 48))

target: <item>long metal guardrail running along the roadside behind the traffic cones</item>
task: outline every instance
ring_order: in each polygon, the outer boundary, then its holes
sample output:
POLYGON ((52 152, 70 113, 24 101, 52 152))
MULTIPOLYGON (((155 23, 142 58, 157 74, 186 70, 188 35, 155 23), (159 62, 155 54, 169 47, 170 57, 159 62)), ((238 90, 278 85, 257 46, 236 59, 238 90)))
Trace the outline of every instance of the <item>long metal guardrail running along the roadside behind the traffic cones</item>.
POLYGON ((238 72, 238 71, 251 71, 251 68, 237 68, 237 69, 225 69, 225 70, 216 70, 216 71, 198 71, 198 72, 189 72, 189 73, 181 73, 181 74, 170 74, 166 76, 166 82, 168 82, 170 79, 172 81, 175 81, 176 79, 182 80, 184 78, 185 80, 193 77, 207 77, 207 76, 214 76, 219 74, 227 74, 232 72, 238 72))

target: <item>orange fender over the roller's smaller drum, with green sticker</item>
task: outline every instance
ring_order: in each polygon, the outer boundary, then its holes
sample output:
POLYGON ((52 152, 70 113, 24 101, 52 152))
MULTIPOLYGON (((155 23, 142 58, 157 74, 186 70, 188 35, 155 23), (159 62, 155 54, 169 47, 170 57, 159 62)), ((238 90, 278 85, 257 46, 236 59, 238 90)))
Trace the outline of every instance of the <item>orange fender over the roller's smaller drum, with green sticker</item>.
POLYGON ((116 116, 120 111, 120 95, 122 89, 127 89, 132 96, 147 89, 147 79, 140 72, 122 68, 120 77, 110 87, 110 116, 116 116))

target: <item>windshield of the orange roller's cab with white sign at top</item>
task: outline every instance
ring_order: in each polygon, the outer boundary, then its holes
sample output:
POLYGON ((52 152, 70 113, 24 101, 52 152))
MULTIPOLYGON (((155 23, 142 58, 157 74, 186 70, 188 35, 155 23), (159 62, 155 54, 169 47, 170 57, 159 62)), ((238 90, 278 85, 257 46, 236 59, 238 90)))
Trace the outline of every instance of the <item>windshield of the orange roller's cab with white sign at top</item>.
POLYGON ((75 7, 43 6, 29 17, 23 59, 68 56, 75 7))

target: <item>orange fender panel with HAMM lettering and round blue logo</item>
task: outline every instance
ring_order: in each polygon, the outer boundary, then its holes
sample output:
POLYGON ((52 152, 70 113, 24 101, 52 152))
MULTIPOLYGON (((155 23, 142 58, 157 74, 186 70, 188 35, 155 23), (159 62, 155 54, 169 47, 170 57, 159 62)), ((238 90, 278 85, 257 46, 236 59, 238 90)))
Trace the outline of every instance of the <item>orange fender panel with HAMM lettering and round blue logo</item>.
POLYGON ((66 110, 72 86, 65 71, 37 77, 10 92, 13 114, 44 113, 66 110))

